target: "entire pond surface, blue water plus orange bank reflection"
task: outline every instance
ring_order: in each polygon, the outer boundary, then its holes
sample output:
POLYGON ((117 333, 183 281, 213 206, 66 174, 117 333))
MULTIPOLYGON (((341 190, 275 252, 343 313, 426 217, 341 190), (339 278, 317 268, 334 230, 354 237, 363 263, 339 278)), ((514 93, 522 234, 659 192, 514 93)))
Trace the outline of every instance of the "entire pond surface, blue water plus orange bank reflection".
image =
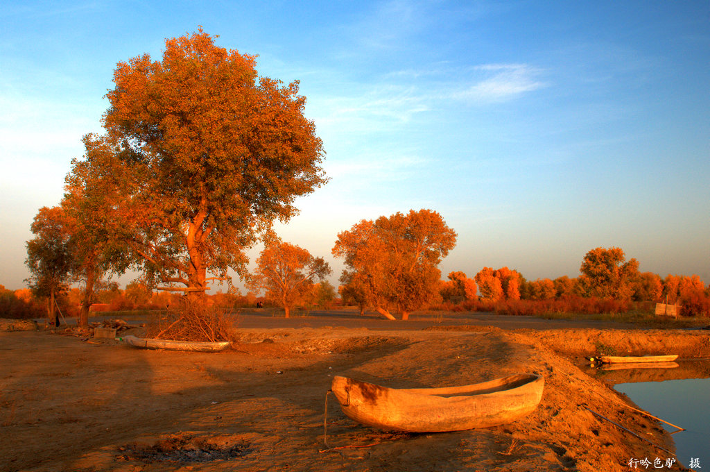
POLYGON ((673 368, 590 373, 614 383, 618 392, 628 395, 650 414, 685 428, 672 436, 678 460, 687 467, 695 460, 697 470, 710 469, 710 363, 681 362, 673 368))

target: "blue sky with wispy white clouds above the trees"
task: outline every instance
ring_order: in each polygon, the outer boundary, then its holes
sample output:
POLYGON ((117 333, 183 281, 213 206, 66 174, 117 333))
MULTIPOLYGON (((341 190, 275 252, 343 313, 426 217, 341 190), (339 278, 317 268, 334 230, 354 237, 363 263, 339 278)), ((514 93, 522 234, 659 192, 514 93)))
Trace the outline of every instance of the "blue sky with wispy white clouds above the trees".
POLYGON ((458 234, 442 277, 577 277, 586 252, 621 247, 642 272, 710 283, 708 1, 9 0, 0 23, 8 289, 26 285, 35 214, 102 132, 116 63, 199 26, 300 80, 330 180, 276 230, 334 285, 339 232, 421 208, 458 234))

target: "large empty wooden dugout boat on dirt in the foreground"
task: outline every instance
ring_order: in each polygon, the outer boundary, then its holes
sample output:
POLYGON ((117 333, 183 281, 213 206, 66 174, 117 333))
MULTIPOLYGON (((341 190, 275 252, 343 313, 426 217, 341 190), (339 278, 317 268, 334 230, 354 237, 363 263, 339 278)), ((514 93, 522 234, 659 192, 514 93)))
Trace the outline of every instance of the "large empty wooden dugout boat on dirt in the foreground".
POLYGON ((539 375, 516 374, 461 387, 394 389, 334 377, 344 414, 379 429, 463 431, 506 424, 530 414, 542 397, 539 375))

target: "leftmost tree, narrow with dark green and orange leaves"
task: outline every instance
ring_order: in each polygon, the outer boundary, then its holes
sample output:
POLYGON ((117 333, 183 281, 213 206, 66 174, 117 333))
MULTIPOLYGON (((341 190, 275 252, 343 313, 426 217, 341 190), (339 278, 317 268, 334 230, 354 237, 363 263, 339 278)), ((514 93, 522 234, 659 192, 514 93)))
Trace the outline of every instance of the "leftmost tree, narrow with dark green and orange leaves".
POLYGON ((47 316, 56 325, 56 297, 67 289, 75 260, 64 211, 60 207, 40 208, 31 230, 35 237, 27 242, 25 264, 31 274, 27 281, 35 296, 47 298, 47 316))

